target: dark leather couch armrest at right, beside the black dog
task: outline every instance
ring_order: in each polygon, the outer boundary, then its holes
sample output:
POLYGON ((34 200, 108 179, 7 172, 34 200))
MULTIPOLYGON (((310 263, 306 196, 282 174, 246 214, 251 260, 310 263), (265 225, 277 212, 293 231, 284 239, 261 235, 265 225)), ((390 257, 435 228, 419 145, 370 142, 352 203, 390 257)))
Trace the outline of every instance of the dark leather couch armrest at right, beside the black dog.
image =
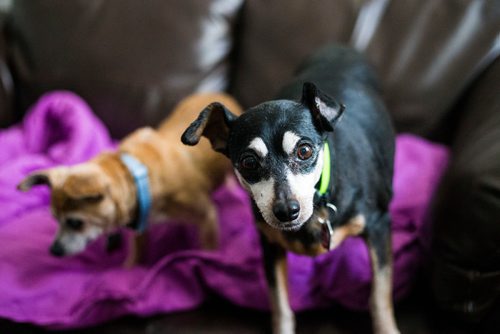
POLYGON ((500 57, 475 81, 436 198, 433 289, 446 310, 482 319, 500 302, 500 57))

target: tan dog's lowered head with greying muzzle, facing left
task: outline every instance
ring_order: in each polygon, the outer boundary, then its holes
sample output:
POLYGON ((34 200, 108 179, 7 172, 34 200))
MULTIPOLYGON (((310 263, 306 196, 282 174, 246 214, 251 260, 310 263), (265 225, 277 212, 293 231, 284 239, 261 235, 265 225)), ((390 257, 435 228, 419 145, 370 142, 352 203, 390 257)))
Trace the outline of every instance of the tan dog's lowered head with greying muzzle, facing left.
POLYGON ((111 180, 95 164, 55 167, 27 176, 18 189, 35 185, 51 188, 51 210, 59 223, 50 252, 55 256, 78 253, 107 232, 116 221, 111 180))

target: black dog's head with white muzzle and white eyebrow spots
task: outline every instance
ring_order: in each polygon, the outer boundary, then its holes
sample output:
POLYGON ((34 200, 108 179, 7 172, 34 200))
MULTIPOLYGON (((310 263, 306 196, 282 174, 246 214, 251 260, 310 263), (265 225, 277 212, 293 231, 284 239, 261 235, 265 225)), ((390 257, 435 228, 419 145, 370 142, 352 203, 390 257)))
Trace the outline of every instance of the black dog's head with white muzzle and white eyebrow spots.
POLYGON ((281 230, 297 230, 313 213, 324 141, 342 112, 342 105, 305 83, 300 102, 269 101, 240 117, 212 103, 187 128, 182 142, 195 145, 207 137, 231 159, 264 220, 281 230))

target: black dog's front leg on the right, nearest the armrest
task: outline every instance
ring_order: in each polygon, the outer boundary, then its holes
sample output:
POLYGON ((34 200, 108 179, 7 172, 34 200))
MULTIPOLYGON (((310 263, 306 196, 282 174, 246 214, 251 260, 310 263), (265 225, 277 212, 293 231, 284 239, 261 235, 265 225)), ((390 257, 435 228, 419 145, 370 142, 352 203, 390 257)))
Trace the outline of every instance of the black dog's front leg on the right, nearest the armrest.
POLYGON ((392 303, 391 222, 388 214, 376 217, 366 231, 373 271, 370 313, 377 334, 399 333, 392 303))

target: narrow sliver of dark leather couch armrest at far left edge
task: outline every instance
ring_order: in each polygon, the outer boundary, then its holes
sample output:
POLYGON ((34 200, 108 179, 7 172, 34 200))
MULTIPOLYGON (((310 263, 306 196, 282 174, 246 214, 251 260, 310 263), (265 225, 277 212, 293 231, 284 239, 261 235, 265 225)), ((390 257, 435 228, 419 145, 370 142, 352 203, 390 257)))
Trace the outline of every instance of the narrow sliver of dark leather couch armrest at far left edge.
POLYGON ((14 122, 14 83, 7 62, 7 41, 5 36, 6 14, 0 11, 0 128, 14 122))

